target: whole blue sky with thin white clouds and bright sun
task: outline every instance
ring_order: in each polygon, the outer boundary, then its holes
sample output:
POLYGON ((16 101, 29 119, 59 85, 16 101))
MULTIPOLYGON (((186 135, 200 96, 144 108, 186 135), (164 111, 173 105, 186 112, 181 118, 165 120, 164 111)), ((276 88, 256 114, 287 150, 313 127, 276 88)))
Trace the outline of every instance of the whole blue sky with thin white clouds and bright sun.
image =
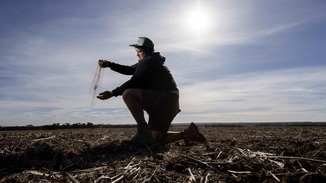
MULTIPOLYGON (((138 36, 166 57, 177 122, 326 121, 325 0, 2 0, 0 125, 135 123, 95 99, 99 59, 137 62, 138 36)), ((128 80, 104 69, 97 92, 128 80)), ((146 115, 146 119, 148 116, 146 115)))

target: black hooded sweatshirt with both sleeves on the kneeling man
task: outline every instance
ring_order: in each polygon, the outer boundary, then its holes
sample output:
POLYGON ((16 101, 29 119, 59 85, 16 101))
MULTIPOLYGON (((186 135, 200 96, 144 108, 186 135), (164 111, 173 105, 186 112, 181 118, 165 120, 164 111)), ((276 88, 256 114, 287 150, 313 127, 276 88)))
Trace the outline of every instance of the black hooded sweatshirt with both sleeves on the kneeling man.
POLYGON ((109 67, 116 72, 132 75, 132 77, 121 86, 112 90, 114 96, 122 95, 128 88, 143 88, 160 91, 178 90, 177 84, 167 67, 165 57, 159 52, 153 52, 137 63, 127 66, 111 63, 109 67))

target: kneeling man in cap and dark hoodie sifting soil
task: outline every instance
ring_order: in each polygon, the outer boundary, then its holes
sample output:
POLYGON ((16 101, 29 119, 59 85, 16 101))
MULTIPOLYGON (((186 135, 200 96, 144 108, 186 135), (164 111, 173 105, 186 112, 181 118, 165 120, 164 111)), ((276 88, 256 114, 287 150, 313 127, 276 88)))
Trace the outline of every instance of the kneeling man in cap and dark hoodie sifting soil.
POLYGON ((154 44, 147 37, 138 37, 135 47, 138 62, 131 65, 120 65, 107 60, 99 60, 101 67, 110 67, 116 72, 132 75, 121 86, 112 91, 104 91, 97 96, 108 99, 122 95, 132 116, 137 122, 137 133, 124 143, 144 145, 153 141, 171 143, 177 140, 205 141, 205 137, 192 123, 183 132, 170 132, 169 127, 174 117, 181 111, 179 108, 179 89, 166 66, 165 57, 154 52, 154 44), (143 110, 148 113, 148 124, 143 110))

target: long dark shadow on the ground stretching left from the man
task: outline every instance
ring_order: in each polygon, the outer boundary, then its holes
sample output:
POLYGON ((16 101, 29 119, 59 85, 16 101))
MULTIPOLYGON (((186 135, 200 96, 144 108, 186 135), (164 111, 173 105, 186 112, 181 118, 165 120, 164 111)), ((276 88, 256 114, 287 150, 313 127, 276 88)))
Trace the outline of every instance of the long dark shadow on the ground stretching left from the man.
POLYGON ((159 143, 138 147, 116 141, 89 147, 78 154, 73 152, 64 154, 44 142, 35 148, 26 150, 25 153, 0 155, 0 179, 31 169, 42 171, 48 169, 50 172, 51 170, 87 169, 103 163, 115 165, 130 156, 155 156, 156 153, 168 150, 169 146, 159 143))

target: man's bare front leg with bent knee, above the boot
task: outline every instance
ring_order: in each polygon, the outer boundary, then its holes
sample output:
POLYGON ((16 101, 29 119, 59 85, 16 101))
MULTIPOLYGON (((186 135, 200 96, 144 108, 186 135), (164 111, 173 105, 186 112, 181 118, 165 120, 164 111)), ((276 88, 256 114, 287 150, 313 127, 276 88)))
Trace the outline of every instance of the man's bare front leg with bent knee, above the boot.
POLYGON ((137 124, 146 123, 142 106, 141 90, 129 88, 123 91, 122 98, 137 124))

